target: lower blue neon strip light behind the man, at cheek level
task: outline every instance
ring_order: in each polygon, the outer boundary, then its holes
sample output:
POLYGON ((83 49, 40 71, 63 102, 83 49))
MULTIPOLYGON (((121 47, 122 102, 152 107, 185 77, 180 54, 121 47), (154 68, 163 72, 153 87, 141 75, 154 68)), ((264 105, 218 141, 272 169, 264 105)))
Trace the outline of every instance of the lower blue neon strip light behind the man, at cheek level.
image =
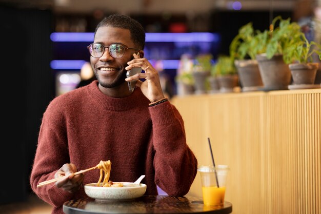
MULTIPOLYGON (((80 70, 86 63, 84 60, 53 60, 50 67, 55 70, 80 70)), ((179 60, 163 60, 164 69, 177 69, 179 60)))

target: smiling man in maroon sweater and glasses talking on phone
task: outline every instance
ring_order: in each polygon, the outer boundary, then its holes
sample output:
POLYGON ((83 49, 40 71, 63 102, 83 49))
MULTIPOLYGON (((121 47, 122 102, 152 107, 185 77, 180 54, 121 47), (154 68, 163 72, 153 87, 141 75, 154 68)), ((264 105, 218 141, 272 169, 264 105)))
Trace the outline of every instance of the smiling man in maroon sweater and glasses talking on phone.
POLYGON ((57 96, 44 113, 30 184, 54 206, 52 213, 63 213, 68 200, 86 197, 83 184, 97 182, 99 171, 73 173, 101 160, 112 163, 110 181, 134 182, 145 174, 146 194, 157 194, 156 185, 170 196, 189 191, 197 160, 186 144, 182 117, 143 58, 144 45, 141 24, 119 14, 104 18, 88 46, 97 81, 57 96), (126 78, 134 67, 145 72, 126 78), (133 92, 132 81, 137 81, 133 92))

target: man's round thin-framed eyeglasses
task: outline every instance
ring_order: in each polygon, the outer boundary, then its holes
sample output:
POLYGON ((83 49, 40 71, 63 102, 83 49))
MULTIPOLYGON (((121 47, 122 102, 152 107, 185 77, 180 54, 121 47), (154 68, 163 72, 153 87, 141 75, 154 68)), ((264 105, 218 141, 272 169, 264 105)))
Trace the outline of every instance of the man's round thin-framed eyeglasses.
POLYGON ((96 58, 101 57, 104 54, 105 48, 108 48, 109 54, 113 58, 121 58, 127 49, 139 50, 137 48, 128 48, 125 45, 117 43, 111 44, 110 46, 104 46, 99 43, 93 43, 90 44, 87 48, 89 50, 90 55, 96 58))

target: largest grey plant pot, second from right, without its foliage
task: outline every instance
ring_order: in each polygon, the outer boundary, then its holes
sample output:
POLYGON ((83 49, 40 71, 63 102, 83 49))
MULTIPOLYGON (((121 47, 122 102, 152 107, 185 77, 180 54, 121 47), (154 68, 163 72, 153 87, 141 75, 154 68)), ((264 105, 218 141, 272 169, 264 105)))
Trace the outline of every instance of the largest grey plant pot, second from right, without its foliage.
POLYGON ((289 66, 283 61, 283 55, 274 55, 270 60, 266 54, 256 55, 258 68, 264 88, 262 90, 285 90, 291 83, 289 66))

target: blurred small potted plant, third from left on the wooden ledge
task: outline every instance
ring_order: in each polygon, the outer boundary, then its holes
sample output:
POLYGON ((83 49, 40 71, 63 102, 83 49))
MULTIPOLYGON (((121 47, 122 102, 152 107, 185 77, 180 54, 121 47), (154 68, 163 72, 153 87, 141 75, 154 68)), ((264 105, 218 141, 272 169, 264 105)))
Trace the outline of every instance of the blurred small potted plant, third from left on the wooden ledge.
POLYGON ((232 57, 219 55, 212 72, 217 76, 220 92, 234 91, 238 85, 238 76, 232 57))

